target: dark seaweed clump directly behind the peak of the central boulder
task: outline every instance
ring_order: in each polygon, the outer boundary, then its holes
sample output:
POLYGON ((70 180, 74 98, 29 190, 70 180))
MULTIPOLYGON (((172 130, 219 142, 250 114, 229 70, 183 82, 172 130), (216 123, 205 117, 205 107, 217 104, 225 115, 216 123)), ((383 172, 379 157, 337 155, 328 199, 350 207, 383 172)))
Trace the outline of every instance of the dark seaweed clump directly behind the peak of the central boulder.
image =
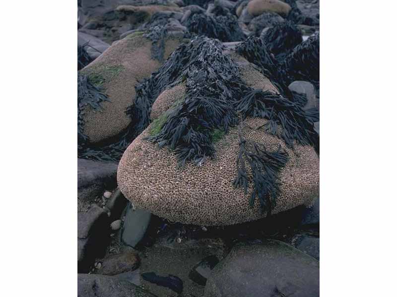
POLYGON ((197 13, 188 20, 187 28, 191 33, 217 38, 222 42, 242 41, 245 39, 237 18, 232 14, 213 17, 212 15, 197 13))

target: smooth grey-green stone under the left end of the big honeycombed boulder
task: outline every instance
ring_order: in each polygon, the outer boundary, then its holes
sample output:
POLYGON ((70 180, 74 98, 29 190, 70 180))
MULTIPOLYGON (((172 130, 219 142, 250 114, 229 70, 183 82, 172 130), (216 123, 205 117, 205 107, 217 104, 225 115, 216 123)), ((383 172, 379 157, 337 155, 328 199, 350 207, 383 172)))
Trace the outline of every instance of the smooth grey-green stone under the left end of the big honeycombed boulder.
POLYGON ((132 209, 131 202, 126 207, 126 215, 122 227, 122 241, 135 247, 145 235, 150 222, 151 213, 143 209, 132 209))

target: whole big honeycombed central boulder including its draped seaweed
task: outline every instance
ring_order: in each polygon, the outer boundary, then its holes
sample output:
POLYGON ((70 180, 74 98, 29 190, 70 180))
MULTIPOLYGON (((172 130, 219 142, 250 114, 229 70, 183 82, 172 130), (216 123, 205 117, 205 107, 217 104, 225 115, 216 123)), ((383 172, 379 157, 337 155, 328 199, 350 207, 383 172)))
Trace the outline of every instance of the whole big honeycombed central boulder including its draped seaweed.
POLYGON ((171 221, 200 225, 312 204, 319 191, 316 115, 259 70, 213 39, 180 45, 130 110, 144 130, 119 163, 125 197, 171 221), (152 122, 142 116, 150 113, 152 122))

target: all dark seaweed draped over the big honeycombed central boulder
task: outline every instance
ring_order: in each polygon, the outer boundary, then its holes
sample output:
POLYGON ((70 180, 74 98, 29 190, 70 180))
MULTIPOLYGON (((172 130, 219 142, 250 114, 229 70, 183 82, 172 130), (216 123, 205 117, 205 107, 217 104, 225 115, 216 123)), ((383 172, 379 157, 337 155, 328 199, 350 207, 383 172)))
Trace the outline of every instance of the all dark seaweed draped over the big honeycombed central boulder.
MULTIPOLYGON (((265 47, 263 52, 266 53, 265 47)), ((262 58, 261 53, 258 54, 262 58)), ((276 75, 273 58, 268 53, 262 61, 263 67, 271 69, 268 73, 276 75)), ((241 122, 239 116, 243 119, 247 116, 267 119, 266 131, 283 139, 289 147, 293 147, 294 141, 313 146, 316 143, 314 116, 279 94, 253 90, 246 85, 237 65, 223 51, 222 44, 203 36, 181 45, 157 72, 139 86, 134 107, 130 109, 131 114, 140 119, 137 123, 139 129, 143 130, 149 124, 150 107, 160 92, 167 86, 182 82, 187 87, 185 98, 167 112, 159 133, 148 137, 160 148, 171 148, 181 166, 188 161, 200 165, 213 156, 214 131, 227 133, 229 127, 241 122)), ((277 173, 285 165, 287 155, 280 149, 266 151, 265 147, 248 142, 241 136, 240 144, 240 154, 236 156, 238 176, 234 185, 247 189, 249 178, 245 159, 253 172, 255 185, 250 204, 253 205, 258 197, 262 211, 270 214, 279 191, 277 173)))

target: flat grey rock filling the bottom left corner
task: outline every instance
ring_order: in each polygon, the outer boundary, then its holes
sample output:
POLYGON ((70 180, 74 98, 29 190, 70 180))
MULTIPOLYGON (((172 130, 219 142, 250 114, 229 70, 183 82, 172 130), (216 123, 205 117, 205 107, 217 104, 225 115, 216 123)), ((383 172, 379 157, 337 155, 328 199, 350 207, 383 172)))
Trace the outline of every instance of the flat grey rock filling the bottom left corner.
POLYGON ((77 297, 155 297, 155 295, 112 276, 77 274, 77 297))

